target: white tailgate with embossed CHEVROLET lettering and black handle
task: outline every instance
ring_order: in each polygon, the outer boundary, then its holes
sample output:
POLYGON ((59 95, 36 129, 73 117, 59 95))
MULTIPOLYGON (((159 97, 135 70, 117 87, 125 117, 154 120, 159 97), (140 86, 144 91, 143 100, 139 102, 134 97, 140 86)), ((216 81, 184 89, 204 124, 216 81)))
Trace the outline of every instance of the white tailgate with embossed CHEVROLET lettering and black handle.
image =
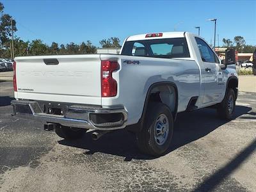
POLYGON ((33 56, 15 61, 16 98, 101 105, 100 55, 33 56))

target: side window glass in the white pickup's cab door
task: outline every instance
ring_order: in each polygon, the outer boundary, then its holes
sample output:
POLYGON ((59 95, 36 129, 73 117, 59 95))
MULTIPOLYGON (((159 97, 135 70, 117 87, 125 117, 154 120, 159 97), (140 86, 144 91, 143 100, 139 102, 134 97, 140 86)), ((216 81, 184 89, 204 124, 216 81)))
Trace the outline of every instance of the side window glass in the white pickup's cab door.
POLYGON ((212 51, 211 47, 209 47, 209 45, 207 45, 200 38, 195 38, 195 39, 201 54, 202 61, 209 62, 209 63, 220 63, 220 61, 218 60, 218 58, 216 58, 216 55, 212 51))

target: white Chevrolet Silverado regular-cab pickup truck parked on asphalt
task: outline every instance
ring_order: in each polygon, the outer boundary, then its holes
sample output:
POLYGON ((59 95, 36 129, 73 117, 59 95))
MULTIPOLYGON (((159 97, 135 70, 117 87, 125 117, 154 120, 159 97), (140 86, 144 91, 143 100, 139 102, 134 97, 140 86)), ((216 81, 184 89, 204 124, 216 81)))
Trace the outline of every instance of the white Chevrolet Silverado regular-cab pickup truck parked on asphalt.
POLYGON ((65 139, 125 128, 154 156, 170 147, 177 113, 214 106, 230 119, 236 106, 234 51, 220 61, 187 32, 129 36, 120 54, 17 57, 13 68, 13 115, 65 139))

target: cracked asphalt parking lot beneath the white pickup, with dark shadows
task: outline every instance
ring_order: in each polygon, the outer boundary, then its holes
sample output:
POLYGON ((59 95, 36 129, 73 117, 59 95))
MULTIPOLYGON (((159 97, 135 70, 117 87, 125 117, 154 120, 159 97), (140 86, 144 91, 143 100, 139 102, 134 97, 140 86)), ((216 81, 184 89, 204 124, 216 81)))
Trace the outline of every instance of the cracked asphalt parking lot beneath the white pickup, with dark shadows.
POLYGON ((256 93, 239 92, 230 122, 214 109, 180 113, 158 158, 126 131, 62 140, 13 118, 12 97, 12 82, 0 82, 0 191, 256 191, 256 93))

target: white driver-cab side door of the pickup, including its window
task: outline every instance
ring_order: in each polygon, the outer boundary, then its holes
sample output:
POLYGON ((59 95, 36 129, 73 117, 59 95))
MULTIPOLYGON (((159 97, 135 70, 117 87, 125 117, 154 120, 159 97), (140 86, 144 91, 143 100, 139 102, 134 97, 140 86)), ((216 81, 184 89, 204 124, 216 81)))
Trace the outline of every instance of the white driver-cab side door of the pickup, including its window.
POLYGON ((204 104, 221 100, 225 84, 223 83, 223 72, 220 67, 218 56, 212 51, 201 38, 195 37, 201 54, 202 83, 204 87, 204 104))

